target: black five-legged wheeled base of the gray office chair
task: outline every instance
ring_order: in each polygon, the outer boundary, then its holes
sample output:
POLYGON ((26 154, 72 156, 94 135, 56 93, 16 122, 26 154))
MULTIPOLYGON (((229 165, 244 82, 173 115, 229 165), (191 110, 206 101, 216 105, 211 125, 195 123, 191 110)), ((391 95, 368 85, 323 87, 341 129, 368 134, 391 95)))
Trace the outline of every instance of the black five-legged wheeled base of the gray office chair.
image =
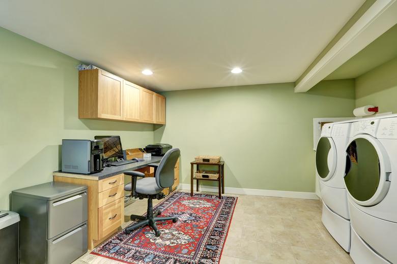
POLYGON ((154 233, 156 235, 156 237, 160 236, 160 230, 158 229, 156 222, 157 221, 167 221, 167 220, 173 220, 173 223, 176 223, 178 220, 177 216, 166 216, 166 217, 156 217, 158 215, 161 214, 160 210, 156 210, 155 212, 153 212, 153 202, 152 199, 148 199, 148 212, 147 212, 147 216, 141 216, 141 215, 131 215, 131 220, 141 220, 140 222, 133 224, 131 226, 128 226, 125 229, 125 234, 129 235, 131 234, 132 230, 142 227, 142 226, 146 226, 149 225, 150 227, 152 227, 152 229, 154 230, 154 233))

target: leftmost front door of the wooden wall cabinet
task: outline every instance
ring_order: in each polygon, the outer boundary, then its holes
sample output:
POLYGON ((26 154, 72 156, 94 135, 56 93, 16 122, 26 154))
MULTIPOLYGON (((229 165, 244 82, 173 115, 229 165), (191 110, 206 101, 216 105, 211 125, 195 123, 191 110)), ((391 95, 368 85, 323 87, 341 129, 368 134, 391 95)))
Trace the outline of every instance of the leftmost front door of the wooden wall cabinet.
POLYGON ((123 79, 105 71, 100 72, 98 86, 98 117, 123 119, 123 79))

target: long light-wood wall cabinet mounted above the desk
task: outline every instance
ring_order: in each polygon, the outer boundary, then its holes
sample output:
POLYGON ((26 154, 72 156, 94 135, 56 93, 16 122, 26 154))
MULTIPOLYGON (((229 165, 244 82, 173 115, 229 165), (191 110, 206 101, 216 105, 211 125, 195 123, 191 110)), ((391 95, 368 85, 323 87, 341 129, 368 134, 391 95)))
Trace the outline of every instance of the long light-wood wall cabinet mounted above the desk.
POLYGON ((78 79, 78 118, 165 124, 164 96, 101 69, 78 79))

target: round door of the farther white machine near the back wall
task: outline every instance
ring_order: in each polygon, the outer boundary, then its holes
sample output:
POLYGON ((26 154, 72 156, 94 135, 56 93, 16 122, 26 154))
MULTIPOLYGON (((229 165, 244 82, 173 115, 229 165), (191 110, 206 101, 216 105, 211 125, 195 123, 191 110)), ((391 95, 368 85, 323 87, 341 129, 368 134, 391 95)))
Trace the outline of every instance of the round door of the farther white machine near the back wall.
POLYGON ((332 138, 321 137, 316 148, 316 170, 320 179, 328 181, 336 169, 336 148, 332 138))

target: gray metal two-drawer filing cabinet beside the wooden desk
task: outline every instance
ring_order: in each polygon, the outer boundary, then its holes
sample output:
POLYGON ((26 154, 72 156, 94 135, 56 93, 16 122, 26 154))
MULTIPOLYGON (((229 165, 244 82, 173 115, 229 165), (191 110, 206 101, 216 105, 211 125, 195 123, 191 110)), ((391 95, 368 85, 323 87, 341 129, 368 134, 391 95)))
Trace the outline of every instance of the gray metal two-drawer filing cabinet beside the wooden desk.
POLYGON ((69 264, 88 249, 87 186, 48 182, 12 191, 20 263, 69 264))

